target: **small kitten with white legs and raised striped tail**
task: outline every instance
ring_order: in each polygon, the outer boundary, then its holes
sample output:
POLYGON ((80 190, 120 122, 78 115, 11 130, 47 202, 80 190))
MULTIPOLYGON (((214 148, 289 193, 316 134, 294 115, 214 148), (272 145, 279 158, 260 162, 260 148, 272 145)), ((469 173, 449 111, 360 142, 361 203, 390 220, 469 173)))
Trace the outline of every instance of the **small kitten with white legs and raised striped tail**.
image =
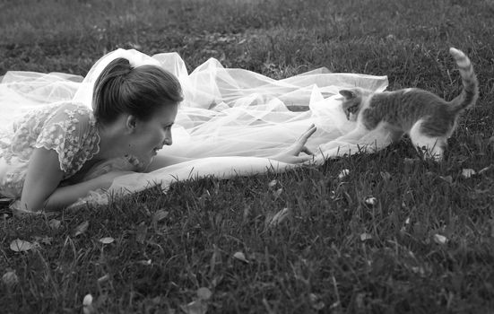
MULTIPOLYGON (((358 139, 362 132, 387 132, 392 141, 403 134, 425 152, 426 157, 442 159, 446 140, 453 134, 459 115, 478 98, 479 87, 472 63, 464 53, 450 48, 463 82, 463 91, 454 100, 446 101, 418 88, 394 92, 371 92, 360 88, 340 91, 346 117, 357 121, 357 127, 346 140, 358 139)), ((367 138, 372 136, 366 135, 367 138)))

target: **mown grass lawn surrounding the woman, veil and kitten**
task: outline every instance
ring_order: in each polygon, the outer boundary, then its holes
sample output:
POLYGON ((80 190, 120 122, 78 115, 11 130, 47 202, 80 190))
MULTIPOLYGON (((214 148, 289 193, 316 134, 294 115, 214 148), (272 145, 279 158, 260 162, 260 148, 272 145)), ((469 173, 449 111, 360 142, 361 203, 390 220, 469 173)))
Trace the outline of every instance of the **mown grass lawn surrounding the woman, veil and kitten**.
POLYGON ((189 70, 216 57, 273 78, 320 66, 386 74, 390 90, 451 99, 454 46, 481 83, 438 164, 417 161, 405 140, 75 213, 6 213, 0 275, 18 283, 0 283, 3 312, 80 312, 91 293, 99 312, 179 313, 196 301, 208 313, 494 313, 492 13, 488 0, 0 1, 0 75, 84 75, 109 50, 139 48, 178 51, 189 70), (464 178, 464 169, 481 173, 464 178), (287 218, 270 223, 284 208, 287 218), (88 229, 75 235, 82 222, 88 229), (18 238, 38 248, 9 249, 18 238), (197 301, 203 287, 212 296, 197 301))

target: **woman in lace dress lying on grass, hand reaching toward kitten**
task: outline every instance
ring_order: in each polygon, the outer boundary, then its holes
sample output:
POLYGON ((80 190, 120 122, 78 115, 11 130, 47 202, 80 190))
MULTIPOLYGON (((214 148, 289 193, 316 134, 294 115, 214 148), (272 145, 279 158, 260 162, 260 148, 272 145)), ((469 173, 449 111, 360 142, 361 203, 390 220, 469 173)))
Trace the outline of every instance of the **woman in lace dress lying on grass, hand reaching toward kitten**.
MULTIPOLYGON (((175 75, 157 65, 116 58, 94 83, 91 106, 62 101, 32 109, 0 142, 0 194, 36 212, 71 205, 109 188, 131 172, 167 167, 185 158, 157 155, 172 144, 171 127, 183 100, 175 75)), ((273 159, 308 161, 311 126, 273 159), (308 155, 299 156, 299 153, 308 155)))

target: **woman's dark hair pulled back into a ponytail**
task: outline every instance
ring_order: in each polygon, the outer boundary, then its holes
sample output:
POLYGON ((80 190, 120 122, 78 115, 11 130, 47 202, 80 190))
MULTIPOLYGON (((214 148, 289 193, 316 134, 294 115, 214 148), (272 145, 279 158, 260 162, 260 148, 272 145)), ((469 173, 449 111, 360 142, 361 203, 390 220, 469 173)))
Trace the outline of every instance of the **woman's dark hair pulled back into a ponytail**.
POLYGON ((128 113, 148 121, 156 109, 184 100, 178 79, 156 65, 131 67, 125 58, 111 61, 94 84, 92 109, 101 124, 128 113))

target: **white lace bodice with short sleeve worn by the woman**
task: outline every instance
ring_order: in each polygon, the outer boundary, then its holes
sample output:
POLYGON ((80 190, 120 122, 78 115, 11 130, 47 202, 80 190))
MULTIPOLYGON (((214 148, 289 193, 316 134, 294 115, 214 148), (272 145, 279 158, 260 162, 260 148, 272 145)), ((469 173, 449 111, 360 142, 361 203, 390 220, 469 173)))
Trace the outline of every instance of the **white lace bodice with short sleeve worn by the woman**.
POLYGON ((54 150, 64 171, 63 179, 72 177, 100 150, 95 124, 91 109, 69 101, 31 110, 15 121, 10 129, 2 131, 0 139, 0 161, 7 165, 0 194, 21 196, 35 148, 54 150))

